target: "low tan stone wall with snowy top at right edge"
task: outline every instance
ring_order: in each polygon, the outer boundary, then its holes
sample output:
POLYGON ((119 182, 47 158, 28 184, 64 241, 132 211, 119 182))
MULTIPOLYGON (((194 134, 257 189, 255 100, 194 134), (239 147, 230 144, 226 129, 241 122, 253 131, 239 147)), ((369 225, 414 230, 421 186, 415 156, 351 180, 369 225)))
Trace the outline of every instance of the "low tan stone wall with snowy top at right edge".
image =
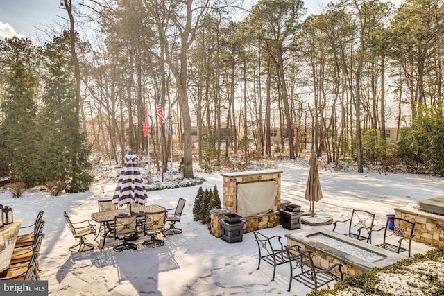
POLYGON ((444 247, 444 216, 421 211, 419 207, 408 205, 395 209, 395 217, 415 223, 413 241, 444 247))

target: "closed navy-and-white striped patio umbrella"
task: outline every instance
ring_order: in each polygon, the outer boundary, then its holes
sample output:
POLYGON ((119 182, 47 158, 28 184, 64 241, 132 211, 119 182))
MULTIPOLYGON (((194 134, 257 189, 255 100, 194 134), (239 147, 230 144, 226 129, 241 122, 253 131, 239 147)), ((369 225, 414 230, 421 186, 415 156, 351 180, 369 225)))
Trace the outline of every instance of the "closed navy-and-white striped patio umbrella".
POLYGON ((148 200, 144 181, 137 165, 137 155, 133 150, 129 150, 124 159, 119 181, 112 196, 112 202, 118 206, 123 204, 145 204, 148 200))

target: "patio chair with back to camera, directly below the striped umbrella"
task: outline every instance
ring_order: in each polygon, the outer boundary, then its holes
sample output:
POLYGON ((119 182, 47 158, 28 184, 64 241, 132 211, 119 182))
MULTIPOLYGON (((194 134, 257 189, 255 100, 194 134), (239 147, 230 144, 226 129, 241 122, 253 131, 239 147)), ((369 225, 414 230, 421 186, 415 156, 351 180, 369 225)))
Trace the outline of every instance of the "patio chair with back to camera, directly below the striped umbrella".
POLYGON ((116 245, 113 250, 122 252, 123 250, 136 250, 135 243, 128 243, 137 236, 137 216, 116 216, 114 218, 114 239, 122 240, 123 243, 116 245))

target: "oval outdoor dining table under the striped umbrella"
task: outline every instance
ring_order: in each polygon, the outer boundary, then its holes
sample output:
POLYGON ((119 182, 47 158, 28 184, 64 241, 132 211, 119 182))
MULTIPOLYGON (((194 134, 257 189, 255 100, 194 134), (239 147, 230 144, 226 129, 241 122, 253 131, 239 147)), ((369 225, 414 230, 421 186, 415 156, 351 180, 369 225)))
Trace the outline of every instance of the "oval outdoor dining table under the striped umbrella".
MULTIPOLYGON (((145 216, 146 214, 150 214, 150 213, 158 213, 160 211, 167 211, 167 209, 165 207, 162 207, 158 204, 148 204, 146 206, 135 206, 133 205, 132 207, 128 207, 126 209, 116 209, 116 210, 112 210, 112 211, 99 211, 99 212, 95 212, 91 214, 91 219, 101 223, 103 230, 103 242, 101 245, 101 249, 103 249, 103 246, 105 245, 105 238, 106 236, 108 236, 108 232, 110 230, 110 227, 108 225, 108 223, 114 221, 114 218, 116 216, 120 216, 120 215, 137 215, 137 216, 145 216)), ((97 236, 99 236, 99 233, 97 234, 97 236)), ((96 237, 97 237, 96 236, 96 237)))

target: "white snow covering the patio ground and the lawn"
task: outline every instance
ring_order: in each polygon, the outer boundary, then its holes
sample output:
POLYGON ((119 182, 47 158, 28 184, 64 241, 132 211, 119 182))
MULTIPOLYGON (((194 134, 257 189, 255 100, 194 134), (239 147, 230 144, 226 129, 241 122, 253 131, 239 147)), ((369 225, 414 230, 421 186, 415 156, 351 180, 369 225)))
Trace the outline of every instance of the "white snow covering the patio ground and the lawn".
MULTIPOLYGON (((375 225, 379 228, 385 225, 386 214, 394 214, 395 208, 413 206, 418 200, 434 198, 444 192, 443 179, 438 177, 368 171, 357 173, 350 166, 336 170, 326 166, 325 162, 321 164, 324 164, 319 171, 323 198, 316 202, 314 209, 316 216, 331 217, 335 221, 349 218, 352 209, 366 209, 376 214, 375 225)), ((305 213, 309 211, 309 201, 304 199, 309 175, 308 159, 263 160, 250 169, 282 171, 281 199, 300 205, 305 213)), ((141 166, 140 170, 142 177, 146 178, 146 166, 141 166)), ((173 171, 177 174, 178 164, 174 164, 173 171)), ((240 242, 227 243, 222 238, 212 236, 207 225, 194 221, 194 200, 199 186, 148 192, 148 204, 159 204, 167 209, 175 208, 179 197, 186 200, 182 219, 176 225, 183 232, 167 236, 164 246, 143 247, 142 241, 148 238, 142 236, 135 241, 139 246, 137 250, 118 253, 112 247, 121 241, 107 238, 105 247, 100 249, 101 237, 94 240, 94 236, 88 236, 87 242, 95 246, 94 250, 69 252, 69 247, 76 240, 65 225, 63 211, 67 211, 74 222, 90 219, 91 214, 98 211, 97 200, 112 197, 119 172, 119 168, 94 168, 96 182, 90 191, 84 193, 51 196, 35 188, 28 189, 20 198, 12 198, 8 189, 0 189, 0 204, 12 207, 14 219, 22 220, 22 226, 34 223, 38 211, 44 211, 45 236, 40 248, 39 268, 41 279, 48 281, 49 295, 302 296, 309 293, 309 288, 297 281, 293 281, 291 291, 287 292, 289 265, 280 265, 274 281, 271 281, 273 269, 270 265, 262 263, 257 270, 258 249, 252 232, 244 234, 240 242)), ((223 200, 221 172, 208 173, 196 167, 194 175, 205 178, 201 185, 204 190, 213 189, 216 185, 223 200)), ((160 180, 160 175, 156 173, 151 177, 153 181, 160 180)), ((167 173, 165 182, 169 180, 171 175, 167 173)), ((99 229, 98 226, 96 229, 99 229)), ((339 223, 336 232, 346 233, 347 227, 347 223, 339 223)), ((332 228, 333 225, 301 225, 300 229, 288 230, 278 226, 259 232, 266 236, 279 235, 282 243, 287 243, 286 234, 302 235, 313 229, 331 231, 332 228)), ((26 233, 28 229, 23 231, 26 233)), ((372 245, 381 243, 382 235, 382 232, 375 232, 372 245)), ((413 254, 424 253, 431 248, 416 241, 412 243, 413 254)), ((400 256, 407 258, 406 252, 400 256)), ((403 280, 397 279, 393 284, 393 278, 391 275, 386 279, 387 293, 420 295, 407 293, 404 290, 407 285, 402 285, 403 280)), ((409 277, 409 281, 412 280, 413 277, 409 277)))

